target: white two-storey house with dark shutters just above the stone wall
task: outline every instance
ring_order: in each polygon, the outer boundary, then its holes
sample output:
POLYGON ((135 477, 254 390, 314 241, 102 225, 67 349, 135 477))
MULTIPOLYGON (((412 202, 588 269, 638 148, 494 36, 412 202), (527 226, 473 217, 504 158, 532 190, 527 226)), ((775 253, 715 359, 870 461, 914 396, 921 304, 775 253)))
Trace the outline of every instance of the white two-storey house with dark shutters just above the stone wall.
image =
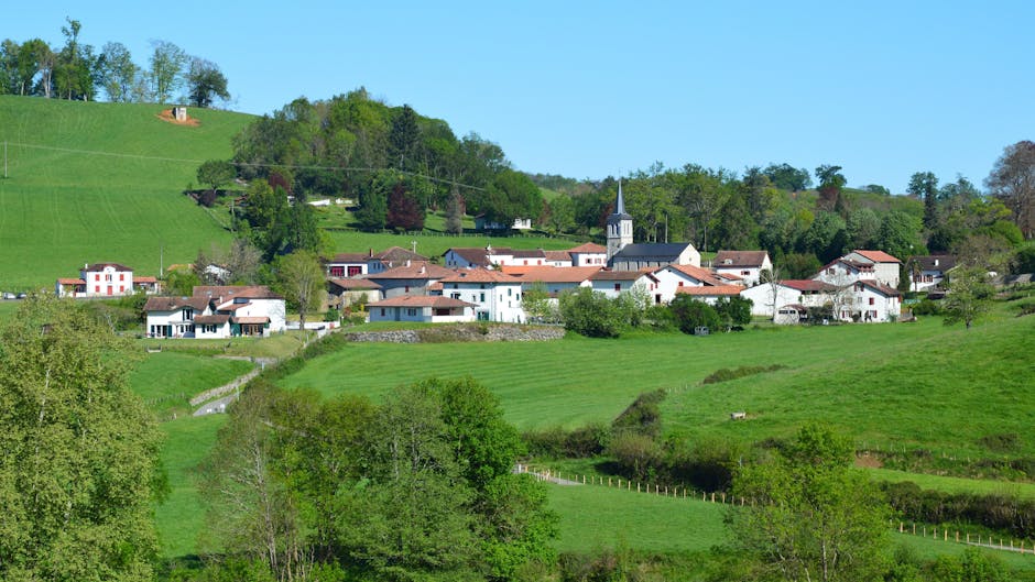
POLYGON ((443 297, 470 304, 480 321, 526 321, 521 307, 521 281, 487 268, 458 270, 443 277, 443 297))

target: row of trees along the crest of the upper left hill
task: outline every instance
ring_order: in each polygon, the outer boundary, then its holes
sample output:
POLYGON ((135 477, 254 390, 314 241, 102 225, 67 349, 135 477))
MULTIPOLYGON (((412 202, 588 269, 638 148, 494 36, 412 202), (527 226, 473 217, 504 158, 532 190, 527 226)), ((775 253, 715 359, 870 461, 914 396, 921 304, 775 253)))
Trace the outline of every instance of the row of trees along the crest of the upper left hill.
POLYGON ((111 102, 168 103, 213 107, 230 99, 219 66, 194 56, 168 41, 152 41, 145 64, 133 61, 120 42, 98 51, 79 40, 83 23, 65 19, 62 46, 40 37, 0 42, 0 95, 111 102))

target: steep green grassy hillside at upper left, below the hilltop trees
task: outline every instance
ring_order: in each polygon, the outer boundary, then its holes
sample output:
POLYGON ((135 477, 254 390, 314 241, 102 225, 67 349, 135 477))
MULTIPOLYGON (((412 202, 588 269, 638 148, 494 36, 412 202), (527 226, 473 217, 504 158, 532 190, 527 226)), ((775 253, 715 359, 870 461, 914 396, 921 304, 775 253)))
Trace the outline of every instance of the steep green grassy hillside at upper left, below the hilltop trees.
POLYGON ((156 275, 163 248, 168 265, 229 241, 182 191, 253 118, 190 109, 199 124, 176 125, 163 109, 0 96, 0 287, 51 287, 101 261, 156 275))

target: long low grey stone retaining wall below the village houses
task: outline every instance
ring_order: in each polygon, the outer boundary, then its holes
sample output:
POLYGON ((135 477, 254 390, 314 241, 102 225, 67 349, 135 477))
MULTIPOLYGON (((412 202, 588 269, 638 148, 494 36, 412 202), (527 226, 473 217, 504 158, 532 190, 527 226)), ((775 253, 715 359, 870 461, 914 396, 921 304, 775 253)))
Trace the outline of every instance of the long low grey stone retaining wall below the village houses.
POLYGON ((446 343, 468 341, 549 341, 564 338, 564 328, 468 323, 392 331, 346 332, 349 341, 385 343, 446 343))

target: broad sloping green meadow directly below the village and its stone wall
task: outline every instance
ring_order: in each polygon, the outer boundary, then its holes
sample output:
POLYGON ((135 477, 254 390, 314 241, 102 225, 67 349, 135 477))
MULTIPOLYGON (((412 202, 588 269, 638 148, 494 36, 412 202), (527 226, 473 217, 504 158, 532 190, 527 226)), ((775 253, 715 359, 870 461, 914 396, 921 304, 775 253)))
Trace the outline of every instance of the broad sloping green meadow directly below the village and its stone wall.
POLYGON ((570 338, 505 350, 352 344, 310 361, 284 385, 377 398, 422 377, 470 374, 500 395, 506 418, 522 428, 609 421, 638 394, 668 388, 666 429, 693 439, 756 441, 820 418, 850 431, 860 446, 984 455, 981 437, 1015 433, 1013 452, 1020 454, 1035 451, 1025 404, 1035 394, 1033 332, 1032 317, 991 320, 970 331, 931 318, 707 338, 570 338), (772 364, 787 367, 700 385, 720 367, 772 364), (749 420, 730 422, 733 410, 748 411, 749 420))

